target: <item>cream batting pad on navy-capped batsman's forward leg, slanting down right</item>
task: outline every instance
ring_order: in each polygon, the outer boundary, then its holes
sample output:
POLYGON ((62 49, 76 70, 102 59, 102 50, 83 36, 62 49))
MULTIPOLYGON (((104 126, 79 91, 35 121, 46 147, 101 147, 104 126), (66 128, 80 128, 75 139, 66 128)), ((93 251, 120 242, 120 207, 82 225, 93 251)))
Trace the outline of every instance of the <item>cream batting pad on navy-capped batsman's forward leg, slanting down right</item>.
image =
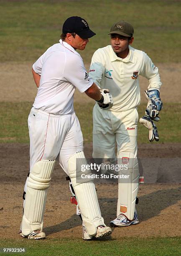
POLYGON ((93 179, 80 178, 81 174, 92 174, 90 170, 82 172, 82 164, 87 165, 87 160, 85 159, 84 152, 80 151, 70 157, 68 161, 68 171, 84 226, 89 236, 94 236, 97 232, 97 227, 105 224, 101 217, 93 179))

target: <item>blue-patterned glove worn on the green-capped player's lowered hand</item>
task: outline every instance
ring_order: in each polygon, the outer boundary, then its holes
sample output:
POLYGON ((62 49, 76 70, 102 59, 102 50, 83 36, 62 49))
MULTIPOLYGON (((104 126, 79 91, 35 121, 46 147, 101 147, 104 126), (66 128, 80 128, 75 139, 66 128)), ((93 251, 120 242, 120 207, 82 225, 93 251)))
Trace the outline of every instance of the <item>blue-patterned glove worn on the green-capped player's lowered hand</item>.
POLYGON ((145 115, 150 116, 154 121, 159 121, 160 117, 158 114, 163 107, 163 103, 160 99, 160 92, 157 89, 150 88, 148 91, 145 91, 145 96, 148 100, 145 115))

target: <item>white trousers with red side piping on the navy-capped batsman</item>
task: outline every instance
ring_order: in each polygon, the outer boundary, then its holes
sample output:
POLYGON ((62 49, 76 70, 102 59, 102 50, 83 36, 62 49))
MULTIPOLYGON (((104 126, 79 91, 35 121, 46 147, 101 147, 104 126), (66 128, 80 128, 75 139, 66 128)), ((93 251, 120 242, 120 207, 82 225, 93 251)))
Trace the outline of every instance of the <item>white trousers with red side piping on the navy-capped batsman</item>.
MULTIPOLYGON (((41 160, 58 160, 68 175, 68 161, 77 151, 83 151, 83 136, 75 112, 53 115, 35 108, 28 116, 30 136, 30 172, 41 160)), ((28 179, 28 178, 27 178, 28 179)), ((26 192, 25 183, 25 192, 26 192)))

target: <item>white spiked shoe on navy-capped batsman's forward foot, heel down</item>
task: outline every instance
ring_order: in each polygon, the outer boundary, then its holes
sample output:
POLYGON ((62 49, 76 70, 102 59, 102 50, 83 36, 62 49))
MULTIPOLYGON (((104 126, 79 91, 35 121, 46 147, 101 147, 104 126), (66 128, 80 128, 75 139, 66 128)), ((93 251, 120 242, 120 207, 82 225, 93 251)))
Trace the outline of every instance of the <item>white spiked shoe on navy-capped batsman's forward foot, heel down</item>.
POLYGON ((92 240, 94 238, 105 238, 107 236, 110 236, 110 234, 112 233, 111 228, 106 226, 98 226, 95 236, 89 236, 84 226, 82 226, 82 231, 83 231, 82 238, 84 240, 92 240))

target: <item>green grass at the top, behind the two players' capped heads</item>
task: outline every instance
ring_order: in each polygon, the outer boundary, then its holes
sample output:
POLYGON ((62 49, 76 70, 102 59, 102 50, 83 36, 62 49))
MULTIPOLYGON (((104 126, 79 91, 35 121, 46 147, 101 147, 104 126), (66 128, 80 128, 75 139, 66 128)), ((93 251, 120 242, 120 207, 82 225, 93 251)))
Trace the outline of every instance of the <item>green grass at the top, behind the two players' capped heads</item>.
POLYGON ((81 51, 86 63, 96 49, 110 44, 107 33, 121 19, 135 28, 133 47, 155 63, 180 62, 179 0, 0 0, 0 61, 36 61, 59 42, 64 21, 73 15, 85 18, 97 33, 81 51))

